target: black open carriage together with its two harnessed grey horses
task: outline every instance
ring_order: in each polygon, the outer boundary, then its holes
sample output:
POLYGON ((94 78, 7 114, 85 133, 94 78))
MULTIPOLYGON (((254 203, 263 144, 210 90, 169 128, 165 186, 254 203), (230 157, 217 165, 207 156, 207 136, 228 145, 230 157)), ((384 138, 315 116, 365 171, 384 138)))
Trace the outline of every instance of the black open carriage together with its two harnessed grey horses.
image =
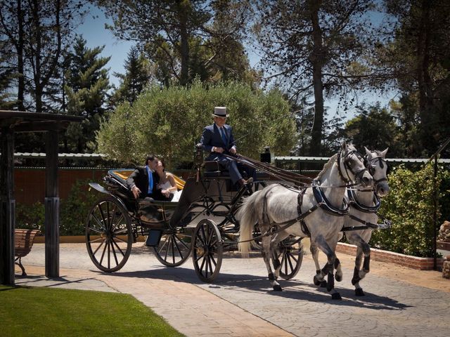
MULTIPOLYGON (((383 154, 366 151, 370 156, 364 163, 354 147, 342 145, 342 150, 330 158, 316 180, 250 158, 236 158, 263 175, 252 185, 234 190, 229 176, 219 169, 217 162, 203 162, 203 152, 198 147, 193 176, 177 182, 183 191, 177 202, 134 199, 126 184, 133 170, 109 171, 108 176, 103 178, 104 186, 89 184, 105 194, 91 208, 86 220, 89 256, 100 270, 115 272, 124 266, 132 244, 139 235, 143 235, 147 237, 146 245, 153 247, 155 256, 163 265, 179 266, 192 255, 198 277, 203 282, 212 282, 219 275, 224 251, 236 251, 238 243, 245 246, 246 242, 251 242, 254 249, 263 251, 274 290, 281 290, 276 279, 295 277, 302 265, 302 238, 311 237, 311 253, 317 270, 314 283, 320 284, 328 275, 328 291, 333 298, 340 298, 338 293, 334 293, 333 286, 334 269, 337 270, 336 279, 342 279, 335 256, 340 233, 354 230, 358 233, 364 230, 371 232, 371 229, 389 227, 389 224, 377 225, 376 216, 375 220, 364 220, 364 216, 348 214, 349 204, 339 204, 344 199, 346 187, 360 183, 371 185, 371 189, 364 187, 366 190, 361 191, 370 193, 369 203, 372 191, 382 185, 388 190, 386 168, 383 166, 387 150, 383 154), (274 183, 274 178, 283 184, 266 187, 274 183), (259 187, 264 189, 259 191, 259 187), (353 221, 350 225, 344 225, 342 220, 347 215, 353 221), (323 269, 317 261, 318 248, 328 256, 328 263, 323 269), (274 272, 269 260, 272 260, 274 272)), ((350 204, 358 204, 352 195, 350 204)), ((356 209, 361 211, 361 205, 356 209)), ((376 206, 366 207, 371 216, 374 216, 376 209, 376 206)), ((358 241, 359 245, 366 244, 363 239, 358 241)), ((357 282, 368 272, 370 249, 368 251, 367 247, 359 246, 355 288, 359 287, 357 282), (363 251, 364 267, 361 270, 363 251)))

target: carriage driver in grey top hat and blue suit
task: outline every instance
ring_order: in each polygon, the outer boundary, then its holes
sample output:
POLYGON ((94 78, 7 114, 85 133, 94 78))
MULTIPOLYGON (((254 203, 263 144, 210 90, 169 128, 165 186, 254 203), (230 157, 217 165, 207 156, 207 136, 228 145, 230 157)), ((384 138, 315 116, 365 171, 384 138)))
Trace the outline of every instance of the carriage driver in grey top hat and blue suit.
POLYGON ((207 161, 219 161, 219 165, 222 169, 228 170, 231 181, 233 184, 238 183, 240 186, 250 184, 255 179, 255 169, 252 169, 243 164, 236 163, 230 157, 226 157, 224 154, 236 154, 236 142, 233 136, 233 128, 228 124, 225 124, 226 107, 214 107, 214 124, 205 126, 203 129, 202 138, 200 143, 203 150, 207 152, 207 161), (245 180, 240 173, 244 171, 249 177, 245 180))

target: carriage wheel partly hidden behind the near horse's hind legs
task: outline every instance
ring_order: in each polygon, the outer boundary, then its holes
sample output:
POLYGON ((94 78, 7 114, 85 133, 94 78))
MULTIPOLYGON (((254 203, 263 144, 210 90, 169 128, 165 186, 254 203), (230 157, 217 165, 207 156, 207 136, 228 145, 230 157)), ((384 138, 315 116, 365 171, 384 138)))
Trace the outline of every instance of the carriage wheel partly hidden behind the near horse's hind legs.
POLYGON ((281 269, 280 277, 292 279, 302 267, 303 244, 300 239, 288 238, 280 242, 281 269))

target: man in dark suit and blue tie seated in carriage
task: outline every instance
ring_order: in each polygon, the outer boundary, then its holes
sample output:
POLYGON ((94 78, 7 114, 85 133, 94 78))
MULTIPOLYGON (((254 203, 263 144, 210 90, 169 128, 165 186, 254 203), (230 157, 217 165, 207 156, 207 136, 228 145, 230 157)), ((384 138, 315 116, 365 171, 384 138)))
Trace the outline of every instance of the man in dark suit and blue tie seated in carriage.
POLYGON ((149 155, 146 159, 146 166, 137 166, 131 176, 127 179, 127 186, 133 192, 136 199, 150 198, 153 200, 169 201, 171 197, 166 197, 158 188, 160 176, 155 169, 159 159, 149 155))

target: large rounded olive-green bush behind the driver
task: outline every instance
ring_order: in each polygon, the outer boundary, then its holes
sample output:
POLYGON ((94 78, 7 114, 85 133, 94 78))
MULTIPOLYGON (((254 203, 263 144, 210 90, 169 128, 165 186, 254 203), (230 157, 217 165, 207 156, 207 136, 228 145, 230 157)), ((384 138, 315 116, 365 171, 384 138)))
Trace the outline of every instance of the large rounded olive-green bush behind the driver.
POLYGON ((238 152, 259 157, 264 146, 288 154, 296 143, 290 105, 279 91, 252 91, 245 84, 228 82, 205 88, 194 81, 189 88, 154 86, 139 96, 131 108, 117 107, 101 124, 98 150, 124 163, 142 163, 148 153, 176 167, 192 161, 194 145, 203 128, 212 124, 214 106, 228 107, 227 123, 233 126, 238 152))

